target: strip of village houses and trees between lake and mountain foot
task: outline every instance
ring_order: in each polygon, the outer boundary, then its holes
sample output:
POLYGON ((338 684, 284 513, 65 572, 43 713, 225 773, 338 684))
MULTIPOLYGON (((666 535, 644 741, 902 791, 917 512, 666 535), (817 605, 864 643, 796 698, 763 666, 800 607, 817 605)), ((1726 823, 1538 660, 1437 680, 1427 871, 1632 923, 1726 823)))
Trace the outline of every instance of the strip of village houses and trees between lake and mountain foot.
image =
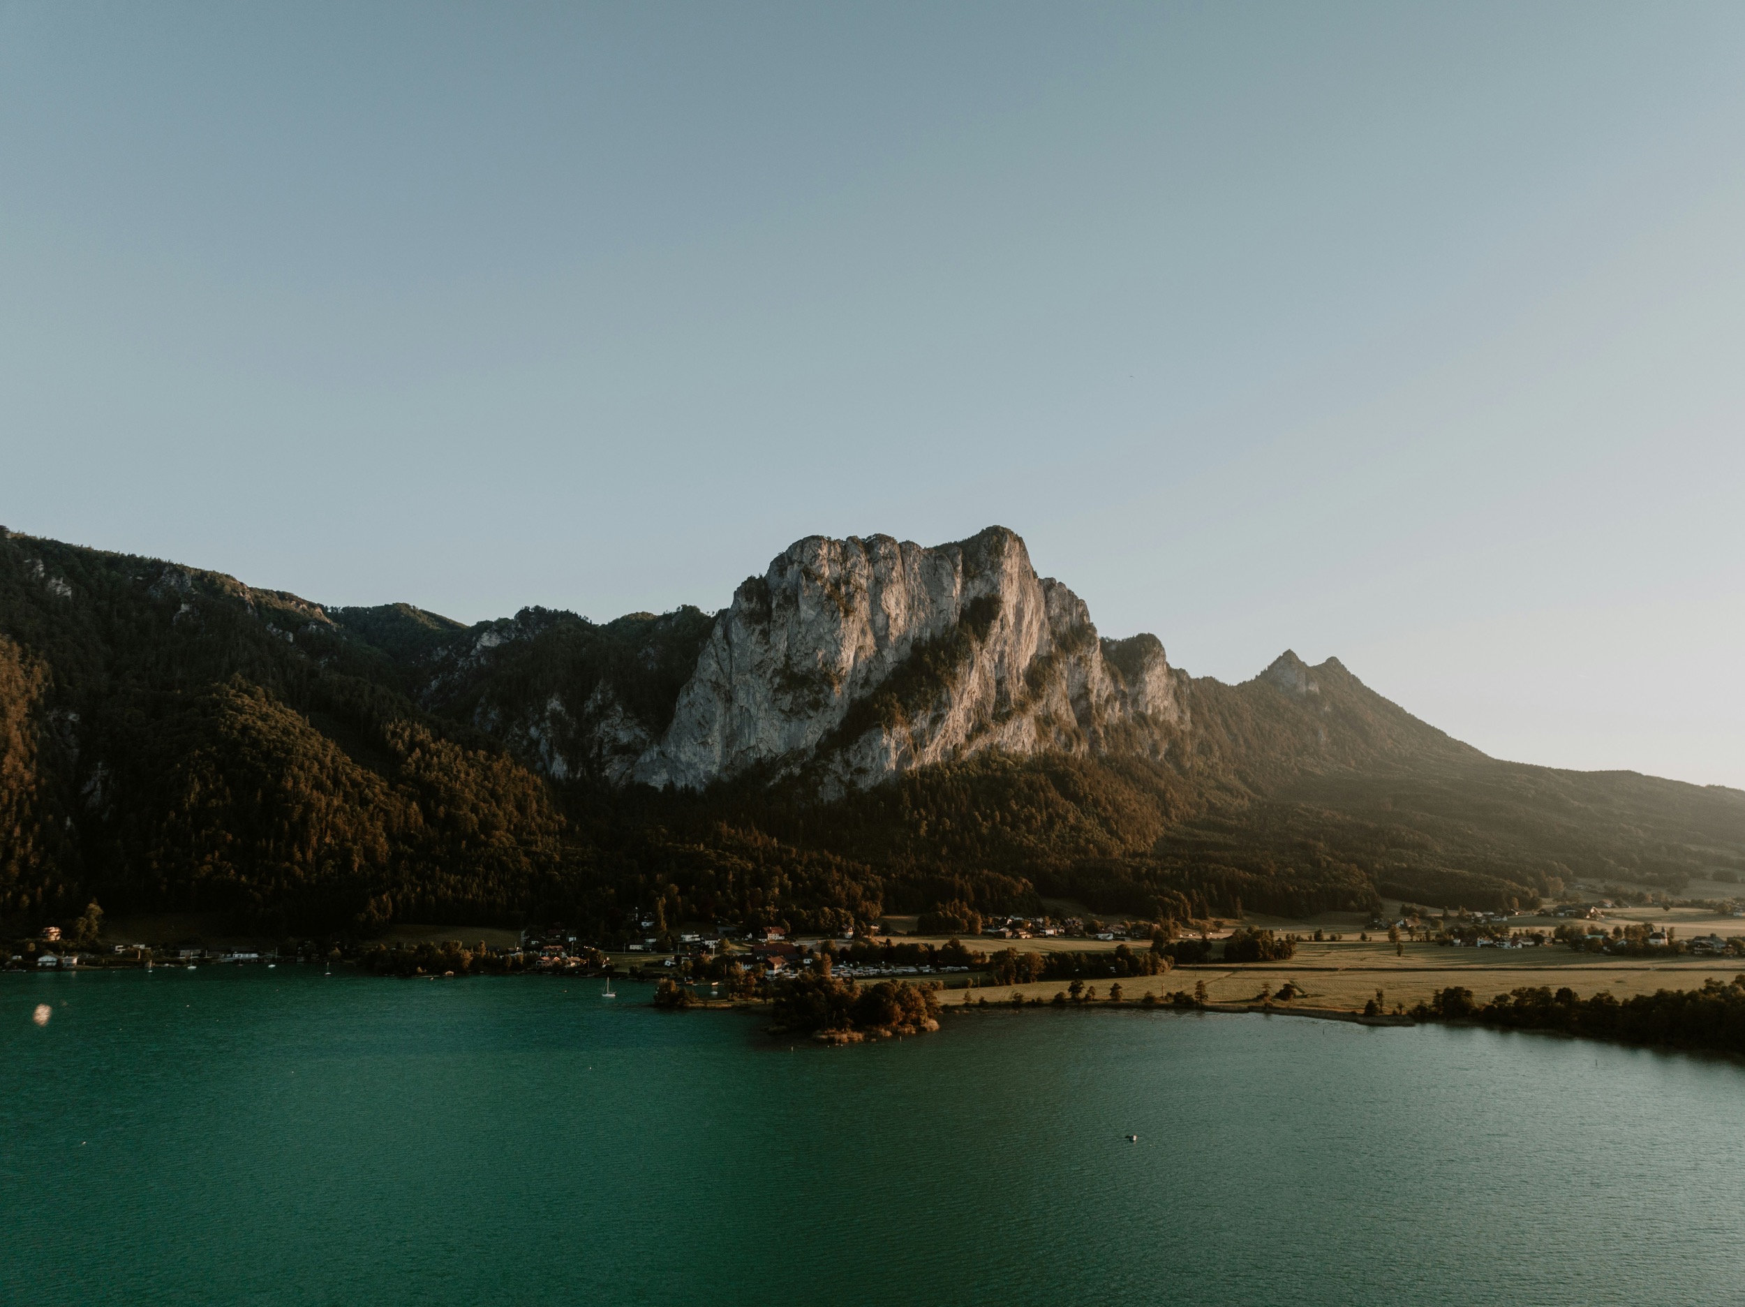
MULTIPOLYGON (((1745 935, 1679 937, 1675 927, 1653 921, 1618 921, 1625 907, 1705 907, 1745 918, 1745 902, 1672 902, 1665 895, 1614 890, 1590 902, 1565 900, 1525 914, 1464 909, 1429 909, 1401 904, 1394 920, 1370 918, 1356 932, 1361 942, 1386 939, 1403 951, 1406 942, 1445 948, 1567 948, 1605 956, 1745 956, 1745 935), (1553 925, 1555 923, 1555 925, 1553 925)), ((822 974, 838 981, 930 981, 934 988, 974 988, 1044 979, 1157 975, 1176 965, 1283 961, 1297 944, 1340 942, 1344 932, 1317 928, 1279 932, 1239 921, 1103 921, 1098 918, 968 914, 972 930, 944 942, 921 942, 885 921, 864 935, 845 930, 836 937, 790 937, 784 925, 714 925, 708 930, 667 930, 660 913, 632 914, 614 939, 588 941, 560 923, 520 932, 513 944, 382 942, 358 939, 302 939, 277 946, 209 948, 197 941, 143 944, 105 941, 103 909, 91 904, 66 927, 44 927, 30 939, 0 944, 7 970, 199 967, 279 963, 352 963, 379 975, 452 977, 469 974, 606 975, 633 981, 670 981, 700 1000, 768 998, 773 982, 822 974), (981 948, 965 942, 972 939, 981 948), (1026 946, 1024 941, 1049 941, 1026 946), (1080 941, 1084 951, 1073 951, 1080 941)), ((921 918, 923 925, 930 925, 921 918)), ((939 932, 944 934, 944 932, 939 932)), ((935 941, 939 939, 935 934, 935 941)))

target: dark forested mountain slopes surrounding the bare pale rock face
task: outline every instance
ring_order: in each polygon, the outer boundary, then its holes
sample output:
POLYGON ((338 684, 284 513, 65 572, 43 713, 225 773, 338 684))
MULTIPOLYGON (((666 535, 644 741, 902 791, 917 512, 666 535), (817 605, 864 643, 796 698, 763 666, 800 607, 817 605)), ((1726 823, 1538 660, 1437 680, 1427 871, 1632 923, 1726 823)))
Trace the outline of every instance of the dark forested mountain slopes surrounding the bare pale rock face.
POLYGON ((92 900, 359 937, 893 913, 968 930, 1044 899, 1194 921, 1745 869, 1745 794, 1499 763, 1331 660, 1314 695, 1291 658, 1194 679, 1192 731, 1162 757, 986 752, 834 801, 804 773, 625 784, 712 623, 462 626, 0 534, 0 930, 92 900))

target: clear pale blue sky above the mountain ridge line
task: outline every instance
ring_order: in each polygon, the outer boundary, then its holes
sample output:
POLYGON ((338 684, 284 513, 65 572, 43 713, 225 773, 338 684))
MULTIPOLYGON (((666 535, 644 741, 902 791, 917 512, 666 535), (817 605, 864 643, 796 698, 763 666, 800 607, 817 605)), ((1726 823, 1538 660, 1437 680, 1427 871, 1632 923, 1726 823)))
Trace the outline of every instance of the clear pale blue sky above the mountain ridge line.
POLYGON ((1012 527, 1745 787, 1745 5, 0 0, 0 522, 464 621, 1012 527))

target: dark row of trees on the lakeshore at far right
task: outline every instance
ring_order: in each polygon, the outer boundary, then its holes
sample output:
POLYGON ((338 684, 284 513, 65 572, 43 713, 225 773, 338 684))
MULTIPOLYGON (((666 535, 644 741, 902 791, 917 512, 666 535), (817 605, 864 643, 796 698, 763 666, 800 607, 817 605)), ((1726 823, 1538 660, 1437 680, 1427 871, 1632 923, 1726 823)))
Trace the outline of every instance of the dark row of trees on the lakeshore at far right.
POLYGON ((1745 974, 1731 982, 1705 981, 1701 989, 1658 989, 1619 1000, 1600 991, 1577 998, 1572 989, 1520 988, 1488 1003, 1462 986, 1440 989, 1412 1009, 1419 1021, 1476 1021, 1506 1030, 1555 1030, 1621 1044, 1707 1049, 1745 1054, 1745 974))

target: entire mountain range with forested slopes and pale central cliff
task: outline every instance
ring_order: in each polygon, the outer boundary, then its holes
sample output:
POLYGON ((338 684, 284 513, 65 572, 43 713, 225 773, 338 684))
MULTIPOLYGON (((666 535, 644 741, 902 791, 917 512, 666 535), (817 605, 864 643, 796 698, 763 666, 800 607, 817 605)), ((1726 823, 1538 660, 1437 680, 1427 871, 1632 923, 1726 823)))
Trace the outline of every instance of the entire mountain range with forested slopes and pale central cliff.
POLYGON ((991 527, 808 537, 715 614, 464 626, 0 534, 0 934, 1495 906, 1745 867, 1745 794, 1490 759, 1337 660, 1228 686, 991 527))

